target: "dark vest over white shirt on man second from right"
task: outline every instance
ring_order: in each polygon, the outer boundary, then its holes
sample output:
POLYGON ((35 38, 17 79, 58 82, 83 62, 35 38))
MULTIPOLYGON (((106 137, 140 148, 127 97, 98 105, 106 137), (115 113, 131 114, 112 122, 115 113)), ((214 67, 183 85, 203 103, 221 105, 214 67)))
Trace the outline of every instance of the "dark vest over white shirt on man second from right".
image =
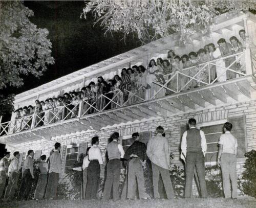
POLYGON ((202 149, 200 130, 193 128, 187 130, 187 152, 196 152, 202 149))

